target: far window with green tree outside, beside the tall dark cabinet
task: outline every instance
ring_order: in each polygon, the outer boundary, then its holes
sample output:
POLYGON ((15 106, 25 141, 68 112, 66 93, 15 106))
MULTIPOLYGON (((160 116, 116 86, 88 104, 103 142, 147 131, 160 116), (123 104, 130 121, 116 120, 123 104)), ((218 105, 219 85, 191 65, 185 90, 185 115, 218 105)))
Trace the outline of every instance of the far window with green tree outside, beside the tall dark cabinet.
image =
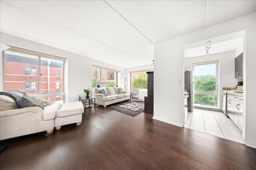
POLYGON ((140 89, 148 89, 148 74, 146 73, 148 71, 153 70, 130 72, 130 92, 133 92, 134 98, 138 98, 140 89))

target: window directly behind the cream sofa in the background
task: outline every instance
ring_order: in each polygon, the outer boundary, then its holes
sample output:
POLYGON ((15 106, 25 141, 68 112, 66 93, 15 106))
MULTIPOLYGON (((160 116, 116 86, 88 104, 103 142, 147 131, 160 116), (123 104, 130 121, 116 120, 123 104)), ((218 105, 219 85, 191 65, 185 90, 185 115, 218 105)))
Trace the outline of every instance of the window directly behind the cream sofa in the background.
POLYGON ((92 88, 97 87, 116 87, 117 84, 117 70, 110 70, 106 68, 92 67, 92 88))

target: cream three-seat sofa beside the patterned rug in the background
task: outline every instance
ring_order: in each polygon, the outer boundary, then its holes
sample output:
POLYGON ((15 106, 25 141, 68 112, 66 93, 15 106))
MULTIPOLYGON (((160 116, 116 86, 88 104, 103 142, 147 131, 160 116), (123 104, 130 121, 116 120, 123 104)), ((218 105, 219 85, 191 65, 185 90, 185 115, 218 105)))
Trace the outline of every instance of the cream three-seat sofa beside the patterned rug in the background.
POLYGON ((122 102, 124 100, 130 100, 130 93, 124 91, 124 94, 117 94, 113 87, 104 88, 108 93, 108 96, 104 96, 104 94, 100 93, 99 90, 102 88, 94 88, 92 89, 92 97, 96 98, 95 103, 99 105, 103 105, 104 107, 122 102))

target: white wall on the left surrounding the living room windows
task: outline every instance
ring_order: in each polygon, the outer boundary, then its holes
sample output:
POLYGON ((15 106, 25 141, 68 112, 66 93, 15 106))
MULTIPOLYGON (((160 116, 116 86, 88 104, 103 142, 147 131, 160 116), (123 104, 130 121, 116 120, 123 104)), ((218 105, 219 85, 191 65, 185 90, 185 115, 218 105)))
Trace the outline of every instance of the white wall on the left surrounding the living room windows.
MULTIPOLYGON (((32 41, 27 41, 24 39, 20 39, 17 37, 13 37, 6 34, 0 34, 1 39, 0 42, 12 45, 15 47, 20 47, 24 49, 29 49, 33 51, 38 51, 42 53, 47 53, 51 55, 56 55, 60 57, 67 58, 66 62, 66 85, 68 85, 68 89, 66 89, 66 102, 75 102, 78 101, 78 95, 84 96, 83 90, 85 88, 92 87, 92 64, 104 66, 107 68, 112 68, 115 70, 120 70, 120 78, 118 79, 118 86, 124 87, 124 68, 120 68, 118 66, 114 66, 111 64, 103 63, 100 61, 96 61, 94 59, 86 58, 80 55, 76 55, 73 53, 69 53, 66 51, 62 51, 59 49, 55 49, 52 47, 48 47, 46 45, 34 43, 32 41)), ((2 59, 2 54, 1 54, 2 59)), ((0 64, 1 73, 2 73, 2 64, 0 64)), ((2 80, 2 79, 1 79, 2 80)))

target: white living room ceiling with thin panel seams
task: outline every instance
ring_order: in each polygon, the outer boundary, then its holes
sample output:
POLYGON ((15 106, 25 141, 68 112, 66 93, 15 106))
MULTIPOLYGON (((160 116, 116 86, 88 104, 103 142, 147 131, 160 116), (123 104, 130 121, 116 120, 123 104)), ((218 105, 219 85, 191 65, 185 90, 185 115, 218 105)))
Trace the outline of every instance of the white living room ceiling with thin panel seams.
POLYGON ((124 68, 151 64, 154 43, 256 12, 256 1, 246 0, 2 0, 0 6, 2 33, 124 68))

